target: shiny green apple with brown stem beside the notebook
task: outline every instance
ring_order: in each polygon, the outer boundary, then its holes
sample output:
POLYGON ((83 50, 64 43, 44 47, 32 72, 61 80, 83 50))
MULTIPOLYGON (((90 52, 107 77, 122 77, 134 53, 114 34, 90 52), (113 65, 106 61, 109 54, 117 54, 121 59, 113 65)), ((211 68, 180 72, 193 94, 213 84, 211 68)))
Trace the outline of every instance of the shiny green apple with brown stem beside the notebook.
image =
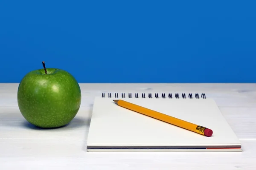
POLYGON ((17 91, 17 102, 23 117, 42 128, 67 125, 81 105, 81 90, 67 71, 44 68, 26 74, 17 91))

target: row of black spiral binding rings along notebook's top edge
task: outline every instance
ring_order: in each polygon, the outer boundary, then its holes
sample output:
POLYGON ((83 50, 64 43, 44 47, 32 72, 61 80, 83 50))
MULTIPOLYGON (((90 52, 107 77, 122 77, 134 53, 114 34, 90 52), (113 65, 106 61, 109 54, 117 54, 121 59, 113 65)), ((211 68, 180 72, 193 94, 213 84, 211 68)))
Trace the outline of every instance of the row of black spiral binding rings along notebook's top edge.
MULTIPOLYGON (((141 97, 142 97, 143 99, 146 98, 145 96, 146 96, 145 93, 142 93, 142 94, 141 94, 141 97)), ((112 94, 111 94, 111 93, 108 93, 108 98, 111 98, 111 97, 112 97, 112 94)), ((125 98, 125 93, 122 93, 122 94, 121 94, 121 97, 122 97, 122 98, 125 98)), ((166 98, 166 94, 165 94, 165 93, 162 93, 162 94, 161 94, 161 97, 162 97, 163 99, 165 99, 165 98, 166 98)), ((102 98, 105 98, 105 93, 102 93, 102 98)), ((119 97, 118 97, 118 93, 115 93, 115 98, 119 98, 119 97)), ((132 93, 128 93, 128 98, 132 98, 132 93)), ((135 98, 140 98, 138 93, 135 93, 135 98)), ((148 93, 148 98, 150 98, 150 99, 152 98, 152 94, 151 94, 151 93, 148 93)), ((156 99, 159 98, 158 93, 155 93, 155 94, 154 94, 154 98, 156 98, 156 99)), ((172 99, 172 93, 169 93, 169 94, 168 94, 168 98, 169 98, 169 99, 172 99)), ((176 99, 179 99, 179 98, 180 98, 178 93, 175 93, 175 98, 176 98, 176 99)), ((181 94, 181 98, 186 99, 186 94, 185 94, 185 93, 182 93, 182 94, 181 94)), ((191 93, 189 93, 188 98, 189 98, 189 99, 193 99, 193 96, 192 96, 191 93)), ((195 98, 196 98, 196 99, 199 99, 199 98, 200 98, 198 93, 195 94, 195 98)), ((204 93, 202 93, 202 94, 201 94, 201 98, 206 99, 206 95, 205 95, 204 93)))

